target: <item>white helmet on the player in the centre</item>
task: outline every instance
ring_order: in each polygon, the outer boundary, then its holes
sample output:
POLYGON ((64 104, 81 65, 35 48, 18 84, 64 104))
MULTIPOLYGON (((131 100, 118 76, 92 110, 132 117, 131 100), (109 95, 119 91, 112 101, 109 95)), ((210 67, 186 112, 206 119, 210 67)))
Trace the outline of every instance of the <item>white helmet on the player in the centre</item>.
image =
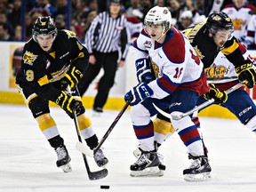
POLYGON ((161 25, 163 24, 164 29, 168 30, 171 28, 172 15, 167 7, 155 6, 151 8, 144 20, 144 25, 161 25))

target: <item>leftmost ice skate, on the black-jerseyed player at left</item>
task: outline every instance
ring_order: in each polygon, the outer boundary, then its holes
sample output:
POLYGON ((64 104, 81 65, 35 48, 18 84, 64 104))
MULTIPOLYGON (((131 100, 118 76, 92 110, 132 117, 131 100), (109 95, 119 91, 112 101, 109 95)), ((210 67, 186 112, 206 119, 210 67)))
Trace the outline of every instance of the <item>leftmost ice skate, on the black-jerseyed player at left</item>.
POLYGON ((56 162, 57 167, 60 167, 63 172, 71 172, 72 167, 69 164, 71 161, 70 156, 68 156, 68 150, 65 146, 60 146, 58 148, 55 148, 55 152, 58 156, 58 160, 56 162))

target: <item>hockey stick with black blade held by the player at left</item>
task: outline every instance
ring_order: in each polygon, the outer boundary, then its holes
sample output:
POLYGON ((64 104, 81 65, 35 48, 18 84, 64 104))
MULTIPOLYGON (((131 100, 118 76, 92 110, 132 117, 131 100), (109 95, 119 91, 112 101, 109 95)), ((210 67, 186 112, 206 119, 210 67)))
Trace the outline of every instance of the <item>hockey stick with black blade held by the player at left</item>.
MULTIPOLYGON (((71 94, 71 90, 70 90, 69 86, 68 86, 68 92, 69 92, 69 94, 71 94)), ((76 88, 76 92, 78 92, 77 88, 76 88)), ((78 92, 78 94, 79 94, 79 92, 78 92)), ((81 138, 81 134, 80 134, 80 130, 79 130, 79 125, 78 125, 75 110, 73 110, 73 116, 74 116, 74 123, 75 123, 75 126, 76 126, 77 138, 78 138, 80 143, 83 143, 82 138, 81 138)), ((85 164, 86 171, 88 173, 89 180, 100 180, 102 178, 105 178, 108 175, 108 170, 107 169, 103 169, 103 170, 100 170, 100 171, 97 171, 97 172, 91 172, 86 156, 84 155, 84 153, 82 153, 82 155, 83 155, 83 158, 84 158, 84 164, 85 164)))

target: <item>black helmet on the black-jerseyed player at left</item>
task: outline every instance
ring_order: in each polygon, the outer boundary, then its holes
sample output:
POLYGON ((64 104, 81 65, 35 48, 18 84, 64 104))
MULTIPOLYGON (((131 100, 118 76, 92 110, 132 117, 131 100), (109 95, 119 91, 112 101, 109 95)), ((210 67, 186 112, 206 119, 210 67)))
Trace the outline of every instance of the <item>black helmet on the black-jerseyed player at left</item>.
MULTIPOLYGON (((54 20, 50 17, 38 17, 32 28, 33 39, 36 41, 38 35, 57 35, 57 28, 54 20)), ((37 41, 36 41, 37 42, 37 41)))

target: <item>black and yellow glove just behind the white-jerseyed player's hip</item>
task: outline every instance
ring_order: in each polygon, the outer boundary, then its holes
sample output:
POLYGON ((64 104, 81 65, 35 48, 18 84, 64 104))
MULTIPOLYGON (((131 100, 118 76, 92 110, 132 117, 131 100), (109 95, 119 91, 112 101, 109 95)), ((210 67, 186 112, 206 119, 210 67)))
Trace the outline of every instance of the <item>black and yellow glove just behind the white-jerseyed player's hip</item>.
POLYGON ((210 89, 208 92, 204 94, 204 99, 205 100, 211 100, 212 98, 214 99, 215 104, 221 104, 224 103, 228 100, 228 93, 227 92, 220 92, 220 90, 215 87, 214 84, 209 84, 210 89))

